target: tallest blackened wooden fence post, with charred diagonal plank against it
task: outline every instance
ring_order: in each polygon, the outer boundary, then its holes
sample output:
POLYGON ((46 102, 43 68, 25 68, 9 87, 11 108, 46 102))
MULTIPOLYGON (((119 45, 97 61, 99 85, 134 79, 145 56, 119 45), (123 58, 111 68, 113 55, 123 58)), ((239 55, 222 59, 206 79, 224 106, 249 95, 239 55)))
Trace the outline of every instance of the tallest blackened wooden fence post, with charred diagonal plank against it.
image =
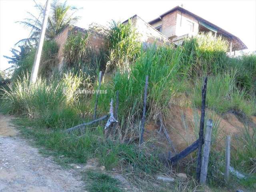
POLYGON ((202 145, 204 144, 204 116, 205 116, 205 100, 206 100, 206 86, 207 77, 204 78, 204 85, 202 88, 202 108, 201 108, 201 120, 200 120, 200 130, 199 130, 199 146, 197 155, 197 168, 196 168, 196 180, 200 180, 201 172, 201 161, 202 161, 202 145))

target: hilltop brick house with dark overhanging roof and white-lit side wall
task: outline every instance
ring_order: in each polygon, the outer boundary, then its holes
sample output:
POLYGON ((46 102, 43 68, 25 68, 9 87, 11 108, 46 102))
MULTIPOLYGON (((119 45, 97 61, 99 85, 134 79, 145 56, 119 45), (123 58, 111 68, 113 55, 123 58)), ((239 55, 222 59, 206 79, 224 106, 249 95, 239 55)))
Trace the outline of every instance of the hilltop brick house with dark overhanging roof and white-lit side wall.
POLYGON ((212 31, 216 36, 221 35, 228 40, 230 56, 232 52, 235 55, 236 50, 247 49, 238 37, 180 6, 172 8, 148 23, 175 44, 181 44, 186 36, 212 31))

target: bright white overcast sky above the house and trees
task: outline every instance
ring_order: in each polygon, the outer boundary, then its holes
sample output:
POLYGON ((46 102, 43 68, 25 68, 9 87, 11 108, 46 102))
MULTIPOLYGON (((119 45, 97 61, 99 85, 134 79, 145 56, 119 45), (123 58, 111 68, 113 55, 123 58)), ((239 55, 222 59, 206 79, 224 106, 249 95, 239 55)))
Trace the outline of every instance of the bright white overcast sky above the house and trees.
MULTIPOLYGON (((35 0, 45 4, 46 0, 35 0)), ((10 67, 4 55, 18 40, 28 38, 29 29, 16 21, 37 14, 33 0, 0 0, 0 70, 10 67)), ((256 50, 256 0, 67 0, 82 8, 76 26, 87 28, 92 22, 107 26, 111 20, 124 21, 137 14, 145 21, 153 20, 175 6, 183 8, 216 24, 240 38, 248 51, 256 50)))

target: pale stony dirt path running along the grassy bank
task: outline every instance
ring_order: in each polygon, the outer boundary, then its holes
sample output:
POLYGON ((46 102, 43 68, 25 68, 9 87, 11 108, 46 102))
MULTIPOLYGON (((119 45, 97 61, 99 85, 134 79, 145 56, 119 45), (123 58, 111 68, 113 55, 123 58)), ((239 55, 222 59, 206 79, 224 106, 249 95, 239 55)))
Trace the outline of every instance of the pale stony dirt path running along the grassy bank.
POLYGON ((17 136, 11 116, 0 114, 0 192, 84 192, 76 170, 64 170, 17 136))

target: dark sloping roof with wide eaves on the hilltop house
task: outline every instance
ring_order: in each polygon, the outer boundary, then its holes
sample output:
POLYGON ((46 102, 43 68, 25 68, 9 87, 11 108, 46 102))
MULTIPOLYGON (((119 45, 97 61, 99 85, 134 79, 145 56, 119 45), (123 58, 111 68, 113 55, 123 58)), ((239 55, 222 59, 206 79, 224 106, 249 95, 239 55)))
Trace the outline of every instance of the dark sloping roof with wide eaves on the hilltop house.
POLYGON ((180 6, 176 6, 176 7, 172 8, 171 10, 169 10, 169 11, 163 13, 162 15, 160 15, 159 18, 156 18, 156 19, 154 19, 154 20, 152 20, 152 21, 150 21, 150 22, 148 22, 148 23, 149 23, 149 24, 154 24, 154 23, 156 23, 156 22, 162 20, 162 18, 163 18, 165 15, 167 15, 167 14, 169 14, 169 13, 171 13, 171 12, 174 12, 174 11, 176 11, 176 10, 179 10, 179 11, 181 11, 181 12, 184 12, 184 13, 187 13, 187 14, 193 16, 193 17, 196 18, 196 20, 198 20, 199 22, 204 23, 204 24, 206 24, 206 25, 208 25, 208 26, 210 26, 210 27, 212 27, 212 28, 215 28, 215 29, 218 31, 218 33, 222 34, 224 37, 227 37, 227 38, 229 38, 229 39, 232 39, 232 49, 233 49, 233 50, 243 50, 243 49, 247 49, 247 46, 246 46, 238 37, 234 36, 234 35, 231 34, 230 32, 227 32, 226 30, 224 30, 224 29, 222 29, 222 28, 216 26, 215 24, 213 24, 213 23, 211 23, 211 22, 205 20, 204 18, 202 18, 202 17, 200 17, 200 16, 197 16, 196 14, 194 14, 194 13, 192 13, 192 12, 190 12, 190 11, 188 11, 188 10, 186 10, 186 9, 184 9, 184 8, 182 8, 182 7, 180 7, 180 6))

